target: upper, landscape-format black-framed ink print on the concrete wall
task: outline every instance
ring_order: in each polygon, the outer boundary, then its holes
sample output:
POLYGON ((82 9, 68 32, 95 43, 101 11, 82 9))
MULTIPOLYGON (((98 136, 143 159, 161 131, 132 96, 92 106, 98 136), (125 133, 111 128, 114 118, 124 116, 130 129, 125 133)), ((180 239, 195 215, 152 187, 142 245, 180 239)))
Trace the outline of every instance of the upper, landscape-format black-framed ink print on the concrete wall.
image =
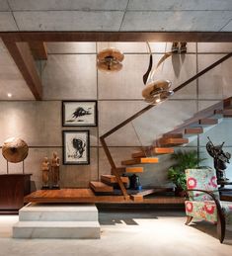
POLYGON ((63 127, 97 127, 97 101, 63 101, 63 127))

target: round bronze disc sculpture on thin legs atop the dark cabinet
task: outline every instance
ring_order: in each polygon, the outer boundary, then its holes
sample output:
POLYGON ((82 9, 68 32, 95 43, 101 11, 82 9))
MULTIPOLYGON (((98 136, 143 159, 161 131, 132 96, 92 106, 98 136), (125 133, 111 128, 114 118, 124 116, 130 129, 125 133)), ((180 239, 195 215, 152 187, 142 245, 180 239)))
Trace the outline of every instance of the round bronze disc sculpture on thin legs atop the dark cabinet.
POLYGON ((24 173, 24 160, 29 154, 29 146, 22 138, 10 137, 4 141, 2 145, 2 155, 7 160, 7 173, 8 162, 19 163, 23 161, 24 173))

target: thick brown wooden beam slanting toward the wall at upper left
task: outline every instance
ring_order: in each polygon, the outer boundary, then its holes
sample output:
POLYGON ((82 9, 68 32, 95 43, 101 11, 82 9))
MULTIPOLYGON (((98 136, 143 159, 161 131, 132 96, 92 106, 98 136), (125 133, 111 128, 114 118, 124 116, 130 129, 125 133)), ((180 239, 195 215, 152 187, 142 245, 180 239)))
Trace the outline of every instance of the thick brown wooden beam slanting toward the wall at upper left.
POLYGON ((35 99, 41 100, 42 86, 29 43, 16 43, 4 38, 2 40, 28 84, 28 87, 35 96, 35 99))

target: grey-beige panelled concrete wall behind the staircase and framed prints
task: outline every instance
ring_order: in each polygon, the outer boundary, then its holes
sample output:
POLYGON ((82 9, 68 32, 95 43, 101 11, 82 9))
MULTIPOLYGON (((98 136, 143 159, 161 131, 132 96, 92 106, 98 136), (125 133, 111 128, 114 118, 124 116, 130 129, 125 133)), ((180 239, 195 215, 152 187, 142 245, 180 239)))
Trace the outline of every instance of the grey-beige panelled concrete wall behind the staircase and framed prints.
MULTIPOLYGON (((151 43, 155 63, 171 43, 151 43)), ((165 78, 173 82, 173 88, 192 77, 226 52, 231 51, 231 43, 188 43, 188 53, 167 59, 155 73, 155 79, 165 78)), ((111 172, 99 136, 114 128, 146 104, 141 97, 144 87, 142 75, 148 65, 146 43, 48 43, 48 60, 39 63, 43 85, 43 101, 1 101, 0 102, 0 144, 10 136, 20 136, 30 145, 30 153, 25 161, 27 173, 33 173, 36 188, 41 186, 40 163, 44 156, 51 157, 57 151, 62 158, 62 100, 97 100, 99 126, 90 129, 90 165, 61 165, 62 187, 88 187, 89 181, 98 180, 101 174, 111 172), (96 52, 106 46, 116 46, 125 53, 123 68, 117 73, 104 73, 96 69, 96 52)), ((130 154, 141 145, 152 141, 165 131, 191 118, 197 110, 210 106, 222 98, 232 96, 231 64, 227 60, 202 78, 175 94, 169 101, 156 107, 126 127, 119 129, 107 142, 120 166, 120 161, 129 159, 130 154)), ((200 153, 205 153, 206 135, 215 143, 226 141, 226 149, 232 152, 230 138, 231 121, 223 121, 219 126, 195 137, 187 149, 198 145, 200 153)), ((172 164, 170 156, 162 156, 160 163, 146 166, 141 174, 142 185, 168 184, 167 169, 172 164)), ((6 161, 0 157, 0 172, 6 172, 6 161)), ((228 168, 228 176, 232 171, 228 168)), ((21 172, 22 164, 10 164, 10 173, 21 172)))

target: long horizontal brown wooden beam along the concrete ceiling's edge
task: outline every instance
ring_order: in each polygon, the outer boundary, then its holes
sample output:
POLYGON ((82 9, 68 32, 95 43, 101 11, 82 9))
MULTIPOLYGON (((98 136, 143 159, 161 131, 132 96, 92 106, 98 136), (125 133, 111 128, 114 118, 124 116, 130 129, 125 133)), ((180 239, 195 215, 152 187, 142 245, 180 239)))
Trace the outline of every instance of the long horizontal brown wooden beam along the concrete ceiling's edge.
POLYGON ((232 42, 232 32, 10 32, 17 42, 232 42))

